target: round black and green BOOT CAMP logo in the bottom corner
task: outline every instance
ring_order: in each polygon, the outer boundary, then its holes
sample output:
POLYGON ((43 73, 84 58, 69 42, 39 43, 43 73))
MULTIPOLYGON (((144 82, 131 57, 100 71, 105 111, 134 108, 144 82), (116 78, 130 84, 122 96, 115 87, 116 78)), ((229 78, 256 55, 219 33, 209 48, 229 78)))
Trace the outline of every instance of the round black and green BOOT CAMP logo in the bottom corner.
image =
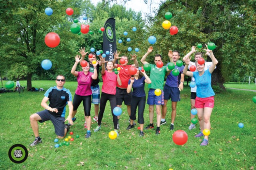
POLYGON ((9 149, 8 156, 12 162, 20 164, 28 158, 28 150, 22 144, 14 144, 9 149))

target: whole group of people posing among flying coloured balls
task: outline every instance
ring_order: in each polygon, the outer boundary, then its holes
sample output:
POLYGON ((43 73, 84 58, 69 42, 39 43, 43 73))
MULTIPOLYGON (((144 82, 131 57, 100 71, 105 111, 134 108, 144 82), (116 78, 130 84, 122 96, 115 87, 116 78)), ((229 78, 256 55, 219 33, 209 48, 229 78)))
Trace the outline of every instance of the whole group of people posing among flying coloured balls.
MULTIPOLYGON (((76 89, 73 103, 72 95, 69 90, 65 89, 65 77, 63 75, 58 75, 56 77, 56 86, 51 87, 44 94, 44 99, 42 100, 41 106, 46 110, 34 113, 30 116, 30 123, 33 129, 35 140, 30 144, 34 146, 42 142, 38 132, 38 123, 44 121, 52 121, 55 133, 59 138, 64 138, 66 132, 69 130, 70 126, 76 121, 76 112, 83 101, 84 106, 84 116, 85 124, 84 127, 87 128, 85 138, 90 138, 91 136, 91 124, 92 118, 90 114, 91 103, 94 104, 95 117, 94 121, 98 123, 98 126, 94 129, 94 132, 98 132, 101 129, 102 118, 104 115, 105 107, 107 101, 110 101, 110 107, 114 123, 114 131, 118 134, 120 129, 119 118, 113 113, 115 107, 121 107, 124 101, 124 105, 127 107, 127 113, 129 116, 129 125, 126 128, 130 130, 136 123, 136 111, 138 108, 138 123, 140 124, 140 134, 139 136, 144 136, 144 129, 154 128, 154 105, 156 105, 156 135, 160 134, 160 125, 166 124, 166 113, 167 113, 167 103, 168 100, 172 101, 172 113, 171 113, 171 124, 170 130, 174 130, 174 121, 176 117, 176 107, 177 102, 180 101, 180 91, 183 89, 184 85, 184 75, 192 77, 192 81, 196 83, 196 90, 191 89, 191 108, 196 108, 198 111, 198 119, 200 124, 200 133, 195 137, 204 136, 202 130, 205 128, 210 129, 210 115, 214 107, 214 91, 211 87, 211 73, 216 68, 218 61, 214 57, 211 50, 208 49, 206 45, 206 54, 212 59, 212 62, 206 62, 204 64, 199 64, 197 60, 202 58, 202 53, 197 52, 195 54, 196 62, 190 61, 193 53, 196 52, 195 47, 183 58, 186 65, 178 67, 176 62, 180 58, 180 53, 178 51, 169 51, 168 57, 170 62, 175 64, 175 69, 179 70, 179 75, 174 76, 171 70, 167 66, 157 67, 157 62, 162 61, 162 55, 156 54, 154 56, 154 63, 150 64, 150 77, 145 73, 143 69, 139 69, 139 63, 137 61, 137 56, 131 55, 130 60, 134 61, 134 64, 128 65, 128 57, 119 57, 120 53, 118 51, 114 52, 113 61, 105 61, 105 58, 98 55, 100 60, 96 61, 96 54, 90 53, 92 56, 89 58, 89 63, 82 67, 82 71, 76 71, 78 63, 84 60, 87 52, 84 48, 79 50, 82 55, 75 56, 75 63, 71 69, 71 73, 77 77, 78 87, 76 89), (116 64, 118 59, 125 61, 122 64, 116 64), (96 62, 95 62, 95 61, 96 62), (94 62, 92 62, 94 61, 94 62), (191 65, 195 65, 197 71, 188 71, 191 65), (100 87, 98 85, 98 75, 99 67, 102 66, 102 90, 100 95, 100 87), (129 74, 130 67, 136 67, 137 72, 135 75, 129 74), (113 71, 114 68, 118 68, 117 71, 113 71), (164 79, 166 78, 166 83, 164 85, 164 79), (144 90, 145 83, 148 84, 148 98, 147 104, 149 108, 149 125, 144 128, 144 109, 146 105, 146 93, 144 90), (162 93, 160 95, 155 94, 155 90, 160 89, 162 93), (47 105, 47 101, 50 104, 47 105), (68 118, 65 119, 65 106, 68 103, 69 114, 68 118), (68 124, 64 124, 68 121, 68 124)), ((140 60, 142 64, 149 64, 146 61, 147 56, 153 51, 153 47, 150 46, 146 54, 140 60)), ((191 115, 191 119, 194 115, 191 115)), ((189 129, 195 128, 195 125, 191 124, 189 129)), ((208 136, 204 136, 204 140, 201 145, 208 145, 208 136)))

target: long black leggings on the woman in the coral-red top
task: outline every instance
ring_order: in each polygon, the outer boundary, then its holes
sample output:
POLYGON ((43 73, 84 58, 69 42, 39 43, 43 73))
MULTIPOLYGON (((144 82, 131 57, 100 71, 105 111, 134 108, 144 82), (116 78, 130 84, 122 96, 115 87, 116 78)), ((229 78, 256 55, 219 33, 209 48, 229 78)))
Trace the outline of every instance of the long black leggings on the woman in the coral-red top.
POLYGON ((111 113, 112 113, 113 122, 114 122, 114 129, 117 129, 117 116, 114 115, 113 113, 113 110, 116 107, 116 95, 110 95, 104 92, 101 92, 101 96, 100 96, 100 112, 98 115, 98 126, 100 126, 101 124, 103 113, 105 111, 106 103, 108 100, 110 102, 111 113))

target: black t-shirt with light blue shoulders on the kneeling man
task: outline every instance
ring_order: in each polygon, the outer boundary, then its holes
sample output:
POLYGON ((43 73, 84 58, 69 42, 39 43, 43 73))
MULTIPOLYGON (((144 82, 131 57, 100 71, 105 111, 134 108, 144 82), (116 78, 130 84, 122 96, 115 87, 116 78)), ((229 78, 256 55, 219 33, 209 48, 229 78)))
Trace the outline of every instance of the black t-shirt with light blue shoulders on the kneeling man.
POLYGON ((48 89, 44 93, 44 96, 49 98, 49 106, 51 108, 58 109, 58 113, 51 111, 48 112, 56 117, 65 117, 67 102, 72 101, 72 95, 70 91, 64 87, 59 90, 56 86, 54 86, 48 89))

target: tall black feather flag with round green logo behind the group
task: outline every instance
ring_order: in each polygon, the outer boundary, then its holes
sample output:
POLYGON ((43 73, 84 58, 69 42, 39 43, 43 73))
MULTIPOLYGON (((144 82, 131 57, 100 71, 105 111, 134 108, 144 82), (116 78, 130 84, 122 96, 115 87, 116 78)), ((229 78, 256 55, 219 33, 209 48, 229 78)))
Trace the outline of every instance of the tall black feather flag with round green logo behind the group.
POLYGON ((106 54, 106 61, 112 61, 114 59, 114 52, 116 51, 116 20, 114 18, 109 18, 104 25, 103 34, 103 51, 109 51, 106 54))

